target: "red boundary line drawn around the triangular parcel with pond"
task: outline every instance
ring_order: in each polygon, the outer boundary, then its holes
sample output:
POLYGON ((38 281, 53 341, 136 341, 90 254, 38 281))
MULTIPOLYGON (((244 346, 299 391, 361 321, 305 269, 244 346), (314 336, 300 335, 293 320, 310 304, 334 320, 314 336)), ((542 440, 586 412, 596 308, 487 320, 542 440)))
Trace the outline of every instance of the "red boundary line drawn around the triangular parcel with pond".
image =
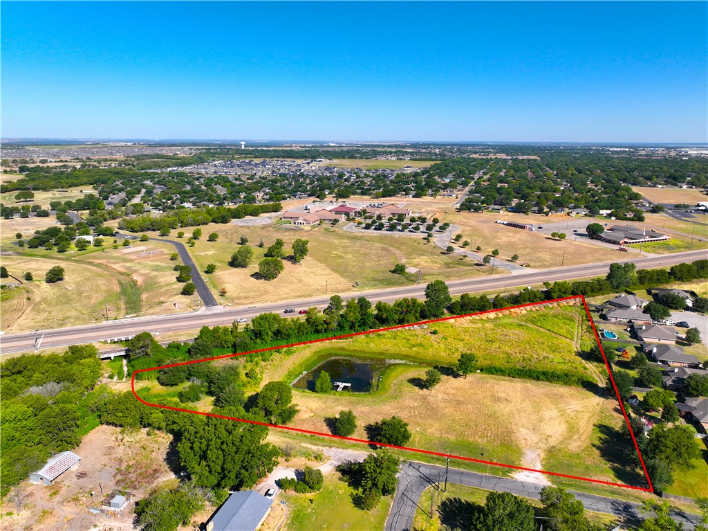
POLYGON ((193 359, 188 362, 180 362, 180 363, 173 363, 170 365, 162 365, 161 367, 151 367, 149 369, 138 369, 137 371, 133 371, 132 379, 130 381, 130 389, 132 390, 133 395, 135 395, 135 398, 137 398, 138 401, 142 402, 145 406, 151 406, 153 408, 169 409, 169 410, 173 410, 173 411, 181 411, 183 413, 194 413, 195 415, 203 415, 205 417, 222 418, 224 420, 236 420, 236 422, 239 422, 239 423, 249 423, 249 424, 256 424, 256 425, 267 426, 267 427, 276 427, 279 430, 288 430, 291 432, 307 433, 308 435, 319 435, 321 437, 331 437, 333 439, 340 439, 340 440, 346 440, 346 441, 351 441, 351 442, 359 442, 359 443, 362 443, 365 445, 375 444, 377 446, 407 450, 409 452, 418 452, 420 454, 435 455, 438 457, 449 457, 450 459, 459 459, 462 461, 469 461, 469 462, 481 463, 481 464, 489 464, 489 465, 494 465, 494 466, 503 466, 504 468, 507 468, 507 469, 537 472, 539 474, 546 474, 547 476, 558 476, 561 478, 578 479, 581 481, 590 481, 591 483, 596 483, 596 484, 610 485, 610 486, 622 487, 622 488, 632 488, 636 491, 645 491, 645 492, 653 492, 654 491, 653 486, 651 485, 651 479, 649 478, 649 473, 646 471, 646 464, 644 464, 644 458, 641 457, 641 452, 639 451, 639 445, 636 444, 636 438, 634 437, 634 432, 632 432, 632 426, 629 425, 629 418, 627 417, 627 411, 624 410, 624 404, 622 404, 622 400, 619 398, 619 391, 617 391, 617 384, 615 384, 615 379, 612 377, 612 371, 610 371, 610 364, 607 362, 607 357, 605 357, 605 351, 603 350, 602 342, 600 342, 600 337, 598 336, 598 331, 595 329, 595 323, 593 323, 593 318, 590 316, 590 310, 588 309, 588 304, 585 301, 585 297, 582 295, 563 297, 563 298, 554 298, 552 301, 542 301, 539 303, 521 304, 519 306, 510 306, 508 308, 498 308, 498 309, 487 310, 487 311, 483 311, 483 312, 468 313, 466 315, 452 315, 450 317, 425 320, 425 321, 420 321, 418 323, 411 323, 408 325, 389 326, 387 328, 377 328, 376 330, 365 330, 363 332, 354 332, 351 334, 338 335, 336 337, 324 337, 324 338, 316 339, 316 340, 309 340, 309 341, 303 341, 303 342, 299 342, 299 343, 292 343, 291 345, 280 345, 278 347, 268 347, 268 348, 263 348, 263 349, 258 349, 258 350, 249 350, 249 352, 238 352, 236 354, 224 354, 222 356, 215 356, 215 357, 205 358, 205 359, 193 359), (357 439, 355 437, 341 437, 341 435, 332 435, 331 433, 316 432, 313 430, 302 430, 297 427, 282 426, 282 425, 277 425, 277 424, 261 423, 256 420, 246 420, 244 418, 227 417, 225 415, 217 415, 216 413, 205 413, 204 411, 194 411, 194 410, 190 410, 190 409, 175 408, 172 406, 162 406, 161 404, 154 404, 154 403, 149 403, 149 402, 144 401, 135 392, 135 375, 139 374, 141 372, 157 371, 159 369, 167 369, 169 367, 179 367, 181 365, 190 365, 193 363, 210 362, 215 359, 225 359, 225 358, 231 358, 231 357, 236 357, 236 356, 245 356, 246 354, 255 354, 257 352, 267 352, 269 350, 279 350, 279 349, 285 349, 288 347, 298 347, 301 345, 310 345, 312 343, 345 339, 346 337, 356 337, 358 335, 373 334, 375 332, 385 332, 387 330, 401 330, 404 328, 411 328, 412 326, 415 326, 415 325, 422 325, 422 324, 429 324, 429 323, 440 323, 442 321, 459 319, 459 318, 464 318, 464 317, 472 317, 474 315, 484 315, 485 313, 496 313, 499 311, 514 310, 516 308, 527 308, 528 306, 542 306, 542 305, 548 304, 548 303, 561 302, 561 301, 571 301, 571 300, 575 300, 575 299, 580 299, 583 302, 583 306, 585 307, 585 313, 588 317, 588 321, 590 322, 590 325, 593 328, 593 334, 595 335, 595 341, 597 341, 598 347, 600 347, 600 352, 603 354, 603 359, 605 360, 605 368, 607 369, 607 374, 610 375, 610 381, 612 381, 612 387, 615 389, 615 396, 617 397, 617 403, 619 403, 619 408, 622 410, 622 416, 624 416, 624 422, 627 423, 627 427, 629 428, 629 435, 632 436, 632 442, 634 443, 634 449, 636 449, 636 454, 639 456, 639 462, 641 463, 641 468, 644 470, 644 476, 646 477, 647 484, 649 484, 649 488, 632 486, 632 485, 624 485, 624 484, 620 484, 620 483, 614 483, 612 481, 602 481, 600 479, 583 478, 581 476, 572 476, 570 474, 560 474, 559 472, 529 469, 529 468, 525 468, 524 466, 515 466, 515 465, 511 465, 511 464, 496 463, 493 461, 484 461, 484 459, 474 459, 472 457, 464 457, 464 456, 455 455, 455 454, 445 454, 443 452, 433 452, 431 450, 423 450, 423 449, 411 448, 411 447, 407 447, 407 446, 387 445, 387 444, 384 444, 381 442, 372 442, 370 440, 357 439))

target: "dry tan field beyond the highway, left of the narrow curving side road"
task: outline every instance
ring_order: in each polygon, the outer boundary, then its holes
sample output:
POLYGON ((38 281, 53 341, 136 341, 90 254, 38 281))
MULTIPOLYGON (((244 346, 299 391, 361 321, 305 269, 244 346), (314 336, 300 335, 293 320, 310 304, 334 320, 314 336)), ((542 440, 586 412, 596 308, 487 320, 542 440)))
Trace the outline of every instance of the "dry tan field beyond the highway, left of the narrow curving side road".
POLYGON ((34 280, 3 292, 1 328, 20 332, 100 322, 106 318, 106 306, 109 319, 196 307, 192 297, 179 294, 181 285, 175 281, 169 249, 150 242, 136 252, 120 247, 73 256, 40 250, 32 255, 5 255, 2 262, 10 274, 22 279, 31 272, 34 280), (64 268, 64 280, 46 284, 45 273, 55 266, 64 268))

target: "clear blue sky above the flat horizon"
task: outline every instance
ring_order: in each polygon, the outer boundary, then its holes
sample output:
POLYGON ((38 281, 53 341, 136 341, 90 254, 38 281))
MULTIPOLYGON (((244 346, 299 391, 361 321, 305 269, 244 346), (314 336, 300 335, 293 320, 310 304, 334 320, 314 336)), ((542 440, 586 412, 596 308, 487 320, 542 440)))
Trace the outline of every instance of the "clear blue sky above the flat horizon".
POLYGON ((2 136, 708 141, 705 2, 3 2, 2 136))

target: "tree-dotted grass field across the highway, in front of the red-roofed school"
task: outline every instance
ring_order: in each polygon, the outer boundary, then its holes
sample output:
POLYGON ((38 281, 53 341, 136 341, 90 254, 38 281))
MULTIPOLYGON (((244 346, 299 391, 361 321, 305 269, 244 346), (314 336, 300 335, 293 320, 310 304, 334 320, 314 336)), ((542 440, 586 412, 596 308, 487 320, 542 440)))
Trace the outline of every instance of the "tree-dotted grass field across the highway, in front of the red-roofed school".
MULTIPOLYGON (((191 230, 185 233, 190 235, 191 230)), ((202 227, 202 234, 195 247, 188 247, 190 255, 202 271, 207 264, 217 265, 217 272, 209 276, 208 284, 215 294, 226 289, 224 302, 234 305, 411 284, 412 279, 391 272, 399 262, 421 268, 421 282, 462 279, 481 275, 481 270, 486 269, 458 255, 445 255, 433 243, 423 242, 422 235, 360 235, 341 227, 297 229, 282 223, 253 227, 212 224, 202 227), (207 242, 212 232, 219 234, 217 242, 207 242), (247 245, 253 249, 253 260, 249 267, 229 267, 231 255, 239 250, 241 236, 249 239, 247 245), (309 240, 309 255, 302 264, 286 260, 284 271, 275 280, 254 278, 258 262, 277 238, 285 242, 287 255, 297 238, 309 240), (258 247, 261 240, 264 245, 258 247)), ((172 237, 175 235, 173 231, 172 237)))

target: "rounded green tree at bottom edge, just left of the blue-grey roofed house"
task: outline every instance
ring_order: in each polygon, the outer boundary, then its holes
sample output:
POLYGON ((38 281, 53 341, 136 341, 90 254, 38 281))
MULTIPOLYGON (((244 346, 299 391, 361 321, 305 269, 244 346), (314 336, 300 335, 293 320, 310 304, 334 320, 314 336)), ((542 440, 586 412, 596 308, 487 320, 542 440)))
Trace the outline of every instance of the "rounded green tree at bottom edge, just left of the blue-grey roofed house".
POLYGON ((194 484, 181 484, 173 490, 152 491, 136 504, 135 514, 144 531, 176 531, 187 525, 204 503, 204 496, 194 484))

